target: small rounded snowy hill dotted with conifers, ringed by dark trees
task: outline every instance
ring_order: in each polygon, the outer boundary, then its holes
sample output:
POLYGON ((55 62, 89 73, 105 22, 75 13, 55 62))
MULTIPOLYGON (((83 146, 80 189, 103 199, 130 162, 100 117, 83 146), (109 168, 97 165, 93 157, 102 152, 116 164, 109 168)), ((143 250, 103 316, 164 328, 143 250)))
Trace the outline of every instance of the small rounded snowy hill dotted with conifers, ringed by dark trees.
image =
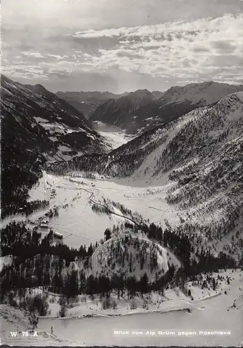
POLYGON ((140 279, 146 273, 148 280, 166 274, 172 265, 178 267, 180 262, 159 244, 152 243, 143 235, 132 235, 127 231, 108 239, 100 251, 94 253, 93 275, 104 276, 135 276, 140 279))

